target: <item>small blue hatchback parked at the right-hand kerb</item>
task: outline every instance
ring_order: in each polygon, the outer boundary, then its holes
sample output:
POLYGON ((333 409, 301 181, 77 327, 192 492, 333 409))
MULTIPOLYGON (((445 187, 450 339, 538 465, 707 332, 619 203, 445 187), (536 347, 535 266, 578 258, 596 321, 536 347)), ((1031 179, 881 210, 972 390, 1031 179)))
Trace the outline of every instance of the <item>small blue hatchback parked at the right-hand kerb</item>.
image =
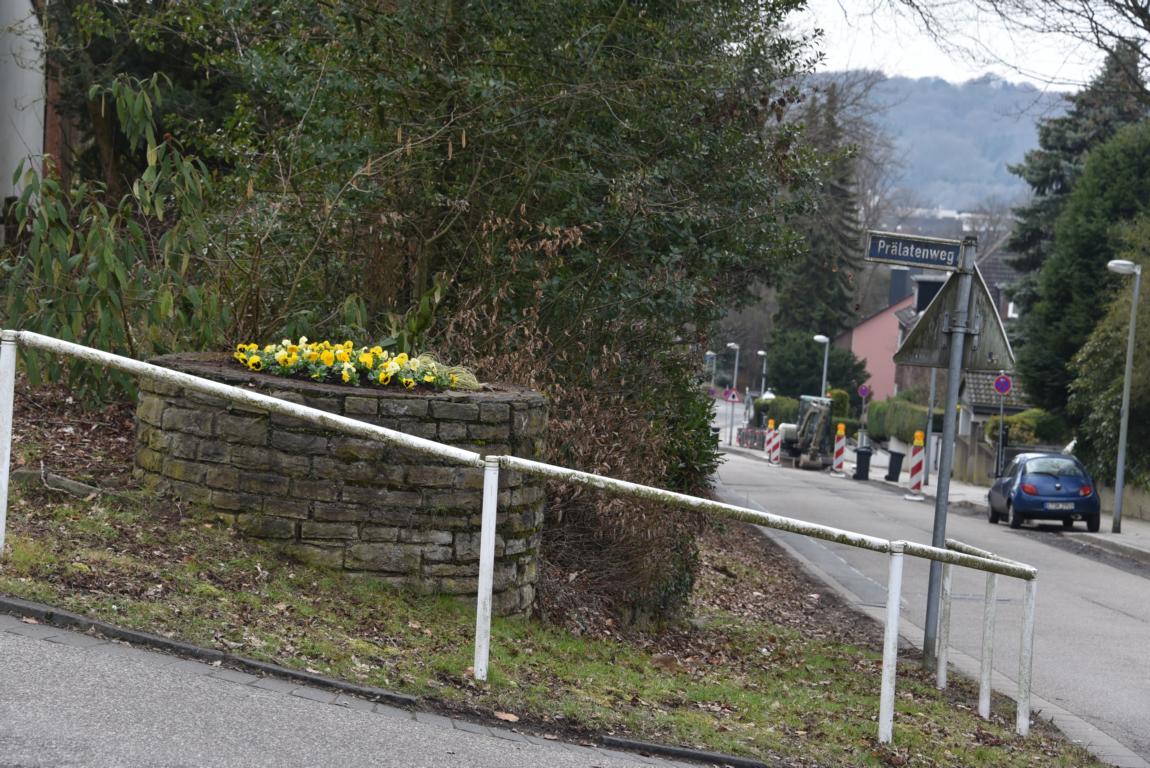
POLYGON ((1020 453, 995 478, 987 496, 988 520, 1005 517, 1011 528, 1027 520, 1060 520, 1073 528, 1084 520, 1086 529, 1098 530, 1101 504, 1090 473, 1082 462, 1061 453, 1020 453))

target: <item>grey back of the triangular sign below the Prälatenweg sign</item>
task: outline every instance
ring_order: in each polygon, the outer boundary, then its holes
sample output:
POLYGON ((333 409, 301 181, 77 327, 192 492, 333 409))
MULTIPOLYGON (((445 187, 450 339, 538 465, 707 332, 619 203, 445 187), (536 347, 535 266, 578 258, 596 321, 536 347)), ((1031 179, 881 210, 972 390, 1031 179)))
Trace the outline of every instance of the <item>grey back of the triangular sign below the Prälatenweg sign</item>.
MULTIPOLYGON (((958 299, 958 281, 952 275, 930 301, 922 317, 895 353, 899 366, 950 367, 950 330, 958 299)), ((971 307, 963 345, 963 370, 994 371, 1014 368, 1014 353, 998 316, 982 272, 974 268, 971 307)))

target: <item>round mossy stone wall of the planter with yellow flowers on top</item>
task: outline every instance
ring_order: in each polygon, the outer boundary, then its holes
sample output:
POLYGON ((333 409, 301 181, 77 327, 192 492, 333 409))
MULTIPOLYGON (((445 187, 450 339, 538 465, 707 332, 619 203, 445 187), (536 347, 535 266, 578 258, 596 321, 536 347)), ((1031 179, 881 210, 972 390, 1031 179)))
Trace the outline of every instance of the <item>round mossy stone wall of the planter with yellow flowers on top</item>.
MULTIPOLYGON (((482 454, 536 459, 546 402, 529 390, 421 393, 334 386, 244 371, 217 354, 158 364, 247 386, 482 454)), ((230 406, 140 381, 136 464, 176 497, 225 515, 301 560, 422 592, 477 590, 483 470, 230 406)), ((494 609, 529 612, 543 527, 543 482, 501 471, 494 609)))

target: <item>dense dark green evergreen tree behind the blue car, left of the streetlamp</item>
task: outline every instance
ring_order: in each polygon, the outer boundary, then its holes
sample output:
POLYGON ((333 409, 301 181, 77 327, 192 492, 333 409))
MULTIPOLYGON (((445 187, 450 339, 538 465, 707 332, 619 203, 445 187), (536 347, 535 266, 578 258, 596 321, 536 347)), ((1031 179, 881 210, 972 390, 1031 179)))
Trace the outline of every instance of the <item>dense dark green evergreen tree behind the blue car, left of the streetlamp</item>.
POLYGON ((1055 249, 1038 276, 1038 300, 1022 316, 1018 367, 1035 405, 1065 413, 1071 360, 1118 284, 1106 262, 1119 228, 1150 210, 1150 121, 1128 125, 1091 152, 1055 226, 1055 249))

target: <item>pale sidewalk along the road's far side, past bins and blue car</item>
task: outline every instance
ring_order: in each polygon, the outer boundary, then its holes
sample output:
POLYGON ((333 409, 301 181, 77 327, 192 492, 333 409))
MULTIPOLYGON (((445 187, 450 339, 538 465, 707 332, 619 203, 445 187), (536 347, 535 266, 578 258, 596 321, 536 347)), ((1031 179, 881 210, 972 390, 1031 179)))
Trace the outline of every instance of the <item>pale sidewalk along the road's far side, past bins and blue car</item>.
MULTIPOLYGON (((910 493, 910 475, 906 471, 907 462, 903 462, 903 471, 899 474, 898 482, 888 481, 885 479, 885 475, 889 469, 889 454, 876 446, 872 447, 874 447, 875 452, 871 456, 871 471, 868 473, 868 479, 866 482, 885 486, 890 489, 891 492, 902 494, 910 493)), ((762 451, 741 448, 737 445, 729 446, 726 444, 720 445, 720 448, 726 452, 737 452, 739 455, 752 456, 754 459, 759 459, 760 461, 766 461, 766 454, 762 451)), ((846 477, 853 478, 854 469, 854 447, 849 445, 846 448, 845 461, 846 477)), ((961 483, 952 479, 950 482, 946 499, 950 506, 964 505, 976 508, 981 513, 986 513, 987 492, 990 489, 988 486, 972 485, 969 483, 961 483)), ((930 475, 930 484, 922 487, 922 496, 926 497, 922 504, 930 505, 933 507, 937 496, 936 477, 934 473, 930 475)), ((1005 523, 999 524, 1005 525, 1005 523)), ((1103 509, 1102 525, 1097 533, 1088 533, 1086 531, 1086 524, 1081 522, 1076 523, 1074 530, 1067 531, 1067 533, 1073 536, 1075 542, 1087 546, 1150 565, 1150 521, 1124 516, 1121 533, 1111 533, 1110 528, 1111 514, 1106 509, 1103 509)))

